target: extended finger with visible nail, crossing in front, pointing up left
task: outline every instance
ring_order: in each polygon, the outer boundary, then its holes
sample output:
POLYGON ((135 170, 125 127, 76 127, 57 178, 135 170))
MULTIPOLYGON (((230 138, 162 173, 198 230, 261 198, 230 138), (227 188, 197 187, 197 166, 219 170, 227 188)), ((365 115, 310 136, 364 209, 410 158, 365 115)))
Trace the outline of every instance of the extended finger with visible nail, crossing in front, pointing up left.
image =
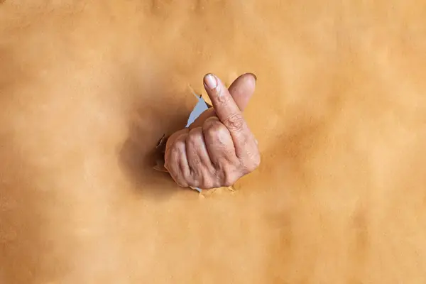
POLYGON ((236 155, 241 158, 246 153, 245 148, 254 143, 253 135, 241 110, 217 76, 212 74, 204 76, 204 87, 212 100, 217 117, 231 133, 236 155))

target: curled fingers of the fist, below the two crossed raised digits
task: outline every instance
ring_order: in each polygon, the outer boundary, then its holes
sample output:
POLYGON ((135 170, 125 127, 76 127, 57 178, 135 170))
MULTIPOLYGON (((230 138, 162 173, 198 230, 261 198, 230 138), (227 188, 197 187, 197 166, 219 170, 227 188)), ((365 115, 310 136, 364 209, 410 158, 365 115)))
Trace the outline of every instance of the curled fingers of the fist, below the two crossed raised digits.
POLYGON ((231 134, 216 116, 202 127, 179 132, 165 153, 165 167, 178 185, 204 189, 229 186, 245 174, 231 134))

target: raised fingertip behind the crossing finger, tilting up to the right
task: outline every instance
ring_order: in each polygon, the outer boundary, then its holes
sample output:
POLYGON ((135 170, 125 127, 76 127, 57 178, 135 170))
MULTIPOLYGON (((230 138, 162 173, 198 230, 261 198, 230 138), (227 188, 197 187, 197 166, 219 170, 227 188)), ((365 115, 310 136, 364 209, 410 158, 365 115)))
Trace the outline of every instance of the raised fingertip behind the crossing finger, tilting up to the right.
POLYGON ((246 73, 236 78, 236 80, 228 88, 229 94, 231 94, 241 112, 244 111, 247 104, 249 104, 249 100, 256 87, 256 80, 256 75, 246 73))

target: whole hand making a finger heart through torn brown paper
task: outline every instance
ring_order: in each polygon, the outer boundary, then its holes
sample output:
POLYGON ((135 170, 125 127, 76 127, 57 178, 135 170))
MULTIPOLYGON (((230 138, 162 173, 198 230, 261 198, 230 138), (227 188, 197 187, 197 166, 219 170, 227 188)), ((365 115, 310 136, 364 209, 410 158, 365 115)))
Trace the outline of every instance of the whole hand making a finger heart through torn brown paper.
POLYGON ((189 128, 173 133, 165 146, 165 168, 178 185, 231 186, 258 167, 257 141, 242 115, 255 84, 250 73, 237 78, 229 90, 217 76, 204 77, 213 109, 204 111, 189 128))

